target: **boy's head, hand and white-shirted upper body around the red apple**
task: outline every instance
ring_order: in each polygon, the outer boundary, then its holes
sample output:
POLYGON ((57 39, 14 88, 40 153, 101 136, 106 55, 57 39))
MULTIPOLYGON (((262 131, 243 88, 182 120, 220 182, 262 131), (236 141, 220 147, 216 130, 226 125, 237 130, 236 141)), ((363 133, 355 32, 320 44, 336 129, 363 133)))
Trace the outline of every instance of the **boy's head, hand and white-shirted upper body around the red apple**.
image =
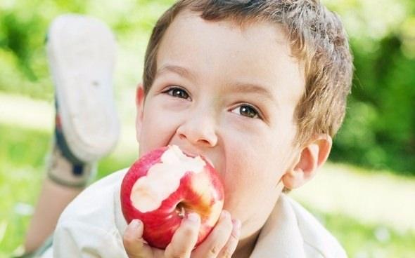
POLYGON ((70 203, 54 256, 345 257, 282 192, 326 161, 351 79, 341 22, 317 0, 179 1, 148 44, 136 91, 139 152, 176 144, 207 156, 224 184, 224 212, 198 247, 196 215, 155 250, 143 224, 122 217, 122 170, 70 203))

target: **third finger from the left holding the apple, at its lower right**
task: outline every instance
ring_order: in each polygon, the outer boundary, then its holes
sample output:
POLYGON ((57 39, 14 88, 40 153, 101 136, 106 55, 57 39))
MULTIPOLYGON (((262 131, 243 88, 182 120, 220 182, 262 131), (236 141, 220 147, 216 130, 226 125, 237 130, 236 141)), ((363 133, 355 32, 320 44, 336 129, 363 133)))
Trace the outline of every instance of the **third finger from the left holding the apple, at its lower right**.
POLYGON ((217 257, 230 238, 232 228, 231 215, 226 210, 223 210, 219 221, 212 232, 210 232, 208 238, 194 250, 194 256, 217 257))

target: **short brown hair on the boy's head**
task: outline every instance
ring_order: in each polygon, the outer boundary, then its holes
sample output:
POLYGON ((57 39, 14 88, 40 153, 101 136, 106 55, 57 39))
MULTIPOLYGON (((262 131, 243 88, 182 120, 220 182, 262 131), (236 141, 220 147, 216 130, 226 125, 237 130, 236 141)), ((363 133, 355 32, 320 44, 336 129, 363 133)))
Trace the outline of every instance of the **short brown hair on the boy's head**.
POLYGON ((305 64, 305 93, 295 109, 296 143, 304 144, 317 133, 336 134, 345 116, 353 74, 347 35, 336 13, 319 0, 180 0, 160 17, 151 34, 144 62, 145 93, 155 77, 162 36, 177 14, 186 9, 200 13, 205 20, 280 25, 292 55, 305 64))

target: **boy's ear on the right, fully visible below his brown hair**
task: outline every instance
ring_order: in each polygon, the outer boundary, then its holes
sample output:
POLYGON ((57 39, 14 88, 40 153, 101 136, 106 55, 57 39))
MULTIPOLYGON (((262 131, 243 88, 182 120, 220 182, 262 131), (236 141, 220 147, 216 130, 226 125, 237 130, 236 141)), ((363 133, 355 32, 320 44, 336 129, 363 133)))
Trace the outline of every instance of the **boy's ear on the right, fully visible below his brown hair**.
POLYGON ((283 185, 287 189, 295 189, 312 179, 317 170, 323 165, 330 154, 333 141, 330 135, 315 136, 300 153, 286 174, 282 177, 283 185))

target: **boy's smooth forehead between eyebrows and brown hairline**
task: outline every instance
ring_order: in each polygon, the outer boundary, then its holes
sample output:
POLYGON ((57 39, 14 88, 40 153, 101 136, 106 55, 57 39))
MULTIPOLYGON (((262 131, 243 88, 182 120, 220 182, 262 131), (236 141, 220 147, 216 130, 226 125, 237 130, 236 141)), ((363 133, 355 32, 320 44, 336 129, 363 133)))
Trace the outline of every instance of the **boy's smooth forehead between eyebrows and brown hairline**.
POLYGON ((241 26, 184 11, 163 36, 157 64, 158 69, 184 67, 189 77, 205 83, 237 80, 264 86, 274 95, 289 91, 290 101, 298 100, 305 85, 304 69, 291 55, 286 33, 269 22, 241 26))

